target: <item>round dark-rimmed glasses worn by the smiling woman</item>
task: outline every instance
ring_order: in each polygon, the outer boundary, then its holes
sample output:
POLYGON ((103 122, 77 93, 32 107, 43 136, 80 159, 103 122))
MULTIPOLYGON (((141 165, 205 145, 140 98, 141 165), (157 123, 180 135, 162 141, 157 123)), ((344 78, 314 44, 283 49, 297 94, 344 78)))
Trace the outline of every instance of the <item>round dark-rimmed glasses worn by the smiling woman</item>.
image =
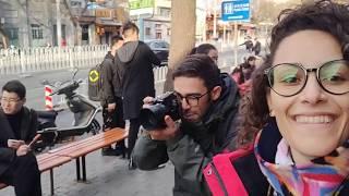
POLYGON ((349 61, 334 60, 316 69, 305 69, 300 63, 281 63, 268 68, 264 74, 269 87, 278 95, 290 97, 299 94, 306 85, 310 72, 316 73, 320 86, 333 95, 349 93, 349 61))

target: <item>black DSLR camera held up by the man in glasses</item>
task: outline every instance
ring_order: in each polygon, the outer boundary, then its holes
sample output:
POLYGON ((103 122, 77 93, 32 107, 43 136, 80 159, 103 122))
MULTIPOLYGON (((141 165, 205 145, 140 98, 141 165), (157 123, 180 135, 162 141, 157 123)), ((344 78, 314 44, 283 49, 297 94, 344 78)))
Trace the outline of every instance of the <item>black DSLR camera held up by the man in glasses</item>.
POLYGON ((153 105, 141 110, 141 124, 145 130, 166 127, 165 115, 170 115, 173 121, 180 119, 180 106, 172 91, 168 91, 155 99, 153 105))

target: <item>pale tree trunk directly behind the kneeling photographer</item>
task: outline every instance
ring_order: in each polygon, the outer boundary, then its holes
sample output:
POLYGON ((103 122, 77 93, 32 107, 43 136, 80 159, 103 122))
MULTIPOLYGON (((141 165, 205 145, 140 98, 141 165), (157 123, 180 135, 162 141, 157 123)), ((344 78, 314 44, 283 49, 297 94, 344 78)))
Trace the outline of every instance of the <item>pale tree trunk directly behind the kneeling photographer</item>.
POLYGON ((172 72, 195 46, 196 1, 171 1, 171 44, 164 91, 173 89, 172 72))

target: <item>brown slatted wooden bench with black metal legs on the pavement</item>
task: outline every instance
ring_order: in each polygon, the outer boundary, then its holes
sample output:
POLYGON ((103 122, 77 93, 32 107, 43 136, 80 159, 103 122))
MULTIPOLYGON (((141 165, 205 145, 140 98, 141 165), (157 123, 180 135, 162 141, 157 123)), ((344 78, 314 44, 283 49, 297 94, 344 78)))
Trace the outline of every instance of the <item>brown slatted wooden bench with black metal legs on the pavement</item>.
MULTIPOLYGON (((112 128, 107 132, 76 140, 48 152, 36 156, 40 172, 50 171, 50 191, 55 194, 53 168, 60 167, 71 160, 76 161, 76 180, 86 181, 86 160, 87 154, 101 149, 103 147, 118 143, 127 138, 127 132, 123 128, 112 128), (82 170, 82 177, 81 177, 82 170)), ((7 184, 0 183, 0 189, 7 187, 7 184)))

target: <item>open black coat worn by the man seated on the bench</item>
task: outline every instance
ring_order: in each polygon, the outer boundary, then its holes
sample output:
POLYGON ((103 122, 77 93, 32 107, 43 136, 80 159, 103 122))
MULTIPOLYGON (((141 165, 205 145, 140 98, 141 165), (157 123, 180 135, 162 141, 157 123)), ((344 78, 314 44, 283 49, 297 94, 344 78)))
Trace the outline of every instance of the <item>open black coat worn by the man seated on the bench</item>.
POLYGON ((11 166, 16 158, 16 151, 8 147, 8 139, 20 139, 29 143, 36 135, 37 114, 34 110, 23 107, 21 120, 21 138, 15 138, 14 132, 3 113, 0 110, 0 175, 11 166))

